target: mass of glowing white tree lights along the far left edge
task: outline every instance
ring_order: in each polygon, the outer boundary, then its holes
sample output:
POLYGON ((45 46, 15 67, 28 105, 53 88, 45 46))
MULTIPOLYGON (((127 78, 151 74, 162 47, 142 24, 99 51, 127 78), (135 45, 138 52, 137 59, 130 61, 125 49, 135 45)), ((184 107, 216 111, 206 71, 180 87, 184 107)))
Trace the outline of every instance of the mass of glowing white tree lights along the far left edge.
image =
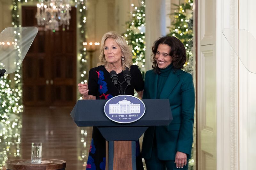
MULTIPOLYGON (((0 63, 0 65, 3 65, 0 63)), ((16 75, 17 76, 17 75, 16 75)), ((14 157, 20 155, 20 115, 23 106, 20 105, 20 90, 12 88, 11 79, 5 74, 0 79, 0 143, 4 141, 5 147, 0 148, 0 169, 5 165, 8 154, 14 157)))

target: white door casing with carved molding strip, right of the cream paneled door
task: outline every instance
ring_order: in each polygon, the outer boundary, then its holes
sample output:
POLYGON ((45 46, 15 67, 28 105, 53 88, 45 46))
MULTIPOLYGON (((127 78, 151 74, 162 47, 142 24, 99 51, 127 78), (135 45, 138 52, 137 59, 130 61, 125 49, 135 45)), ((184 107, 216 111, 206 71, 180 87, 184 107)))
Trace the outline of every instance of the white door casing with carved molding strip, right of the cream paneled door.
POLYGON ((217 169, 238 170, 238 57, 222 34, 238 28, 238 0, 217 0, 216 20, 217 169))

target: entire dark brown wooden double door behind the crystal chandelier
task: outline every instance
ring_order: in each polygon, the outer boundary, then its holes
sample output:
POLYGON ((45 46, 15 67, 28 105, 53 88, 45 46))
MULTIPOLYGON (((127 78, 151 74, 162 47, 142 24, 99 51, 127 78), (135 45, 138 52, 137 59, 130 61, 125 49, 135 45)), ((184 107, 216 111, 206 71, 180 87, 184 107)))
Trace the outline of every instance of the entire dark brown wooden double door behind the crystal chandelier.
POLYGON ((76 102, 76 8, 69 30, 44 31, 37 26, 36 7, 22 7, 22 26, 38 33, 23 61, 25 106, 73 106, 76 102))

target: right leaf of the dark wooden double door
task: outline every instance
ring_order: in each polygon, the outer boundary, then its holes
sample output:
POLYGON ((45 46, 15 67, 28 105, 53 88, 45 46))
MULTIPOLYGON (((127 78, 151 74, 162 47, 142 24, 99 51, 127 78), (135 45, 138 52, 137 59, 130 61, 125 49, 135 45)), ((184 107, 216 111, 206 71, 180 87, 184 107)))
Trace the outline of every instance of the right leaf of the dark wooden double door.
POLYGON ((76 16, 71 18, 68 30, 50 32, 53 105, 73 105, 76 99, 76 16))

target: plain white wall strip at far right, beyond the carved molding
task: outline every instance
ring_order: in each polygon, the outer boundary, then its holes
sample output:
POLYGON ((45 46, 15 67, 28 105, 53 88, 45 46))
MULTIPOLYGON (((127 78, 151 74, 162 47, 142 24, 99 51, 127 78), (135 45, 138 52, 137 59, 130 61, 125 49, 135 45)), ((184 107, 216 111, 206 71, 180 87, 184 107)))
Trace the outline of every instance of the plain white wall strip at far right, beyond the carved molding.
MULTIPOLYGON (((248 35, 252 35, 255 39, 255 26, 256 23, 253 21, 255 18, 255 0, 247 0, 240 2, 239 4, 239 28, 244 29, 243 33, 249 31, 248 35)), ((255 50, 253 49, 256 45, 256 40, 253 41, 253 46, 244 46, 247 42, 240 44, 240 55, 243 62, 248 67, 249 63, 255 63, 255 50), (248 49, 251 48, 251 49, 248 49), (243 54, 243 51, 247 51, 247 54, 243 54), (251 53, 250 53, 251 52, 251 53), (245 55, 245 56, 243 56, 245 55), (249 57, 254 58, 254 62, 249 57), (248 61, 246 61, 248 60, 248 61), (250 61, 251 60, 251 61, 250 61)), ((252 42, 248 42, 252 43, 252 42)), ((255 68, 253 66, 253 68, 255 68)), ((248 69, 253 69, 249 67, 248 69)), ((253 69, 256 70, 256 69, 253 69)), ((240 134, 240 169, 255 169, 256 159, 256 74, 253 74, 245 69, 244 65, 240 61, 240 122, 239 122, 239 134, 240 134)))

